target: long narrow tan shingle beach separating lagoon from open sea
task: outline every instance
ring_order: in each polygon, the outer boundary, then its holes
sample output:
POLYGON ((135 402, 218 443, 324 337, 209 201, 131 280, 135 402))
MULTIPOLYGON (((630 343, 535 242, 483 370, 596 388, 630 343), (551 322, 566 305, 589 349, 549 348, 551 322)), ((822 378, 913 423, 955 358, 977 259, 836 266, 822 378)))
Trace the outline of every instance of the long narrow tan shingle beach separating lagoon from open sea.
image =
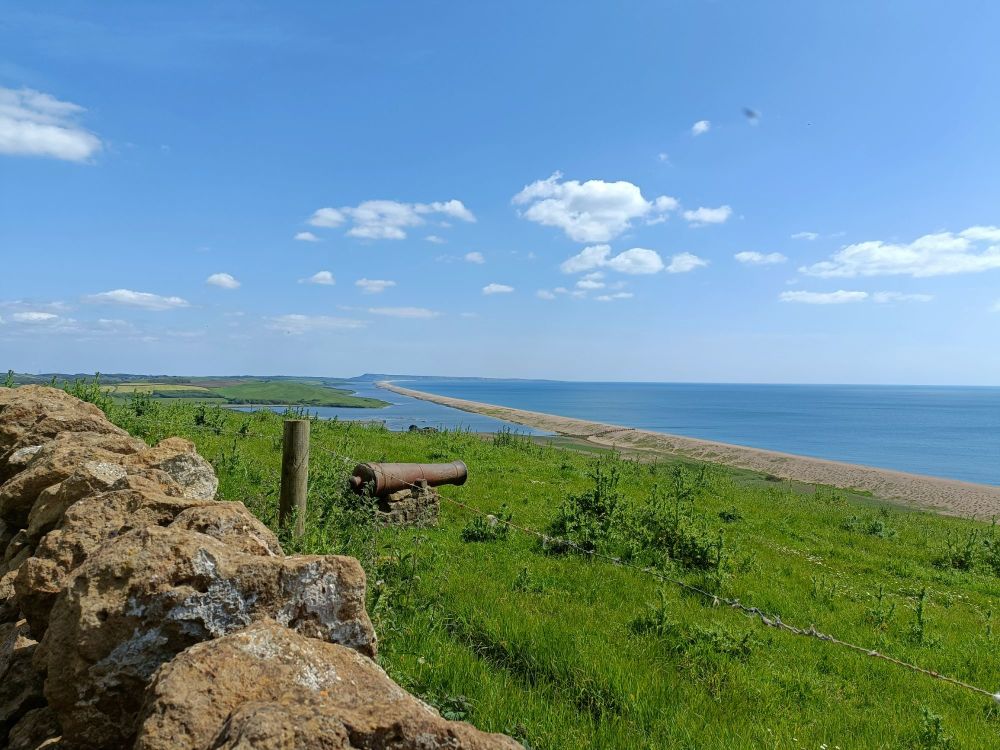
POLYGON ((873 466, 796 456, 650 430, 637 430, 620 425, 588 422, 584 419, 438 396, 402 388, 388 382, 380 382, 377 385, 404 396, 580 438, 597 445, 683 456, 759 471, 782 479, 864 490, 884 500, 949 515, 983 520, 1000 516, 1000 487, 992 485, 940 479, 873 466))

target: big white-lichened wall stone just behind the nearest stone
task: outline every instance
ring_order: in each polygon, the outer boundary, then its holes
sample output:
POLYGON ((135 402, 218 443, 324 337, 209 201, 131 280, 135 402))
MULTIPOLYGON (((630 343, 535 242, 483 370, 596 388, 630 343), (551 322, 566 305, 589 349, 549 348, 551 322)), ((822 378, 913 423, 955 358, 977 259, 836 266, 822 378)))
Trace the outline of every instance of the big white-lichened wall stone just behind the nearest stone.
POLYGON ((353 558, 262 557, 183 529, 127 532, 60 591, 41 644, 45 695, 74 743, 122 746, 157 667, 264 617, 375 651, 364 571, 353 558))

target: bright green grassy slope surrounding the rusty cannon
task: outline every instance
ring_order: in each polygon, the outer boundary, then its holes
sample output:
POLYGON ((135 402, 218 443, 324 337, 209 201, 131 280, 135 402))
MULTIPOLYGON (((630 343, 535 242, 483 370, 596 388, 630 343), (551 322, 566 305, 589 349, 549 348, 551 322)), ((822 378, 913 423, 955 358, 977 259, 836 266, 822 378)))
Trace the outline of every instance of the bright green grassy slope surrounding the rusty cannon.
MULTIPOLYGON (((281 418, 105 403, 155 442, 192 439, 274 528, 281 418)), ((1000 545, 989 524, 669 461, 510 434, 314 422, 308 531, 289 552, 357 556, 379 660, 451 718, 540 748, 991 748, 989 697, 765 627, 639 571, 442 503, 437 528, 378 529, 350 459, 450 461, 445 497, 866 648, 1000 689, 1000 545), (597 478, 595 478, 597 477, 597 478)))

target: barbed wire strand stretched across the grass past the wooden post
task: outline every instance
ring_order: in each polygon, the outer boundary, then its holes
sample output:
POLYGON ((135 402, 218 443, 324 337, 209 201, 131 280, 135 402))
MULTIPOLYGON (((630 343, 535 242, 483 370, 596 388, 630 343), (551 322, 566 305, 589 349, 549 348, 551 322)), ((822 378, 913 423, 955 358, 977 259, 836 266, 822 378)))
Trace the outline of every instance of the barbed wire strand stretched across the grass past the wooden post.
MULTIPOLYGON (((208 425, 204 426, 197 425, 195 426, 195 428, 211 432, 220 437, 226 436, 234 438, 259 438, 259 439, 270 440, 272 442, 275 442, 277 445, 280 445, 280 438, 277 438, 274 435, 222 430, 221 428, 208 425)), ((313 447, 318 448, 325 454, 337 459, 345 467, 350 467, 347 469, 348 471, 354 466, 358 465, 359 463, 363 463, 357 458, 346 455, 344 453, 339 453, 324 446, 313 446, 313 447)), ((421 485, 415 482, 410 482, 402 477, 396 476, 389 472, 385 473, 386 476, 390 476, 396 481, 412 489, 417 489, 417 490, 422 489, 421 485)), ((932 679, 939 680, 941 682, 945 682, 950 685, 954 685, 955 687, 989 698, 995 703, 1000 704, 1000 690, 996 692, 987 690, 985 688, 979 687, 978 685, 973 685, 971 683, 965 682, 964 680, 960 680, 957 677, 952 677, 950 675, 938 672, 937 670, 928 669, 926 667, 920 666, 919 664, 915 664, 913 662, 909 662, 904 659, 899 659, 889 654, 885 654, 881 651, 878 651, 877 649, 873 649, 868 646, 863 646, 856 643, 852 643, 850 641, 846 641, 842 638, 838 638, 834 635, 831 635, 829 633, 824 633, 818 630, 816 626, 812 623, 810 623, 808 627, 803 627, 801 625, 793 625, 789 622, 785 622, 784 620, 782 620, 781 617, 777 614, 770 614, 761 610, 759 607, 744 604, 743 602, 740 601, 740 599, 736 597, 720 596, 719 594, 708 591, 704 588, 701 588, 700 586, 696 586, 694 584, 688 583, 687 581, 683 581, 679 578, 667 575, 662 570, 659 570, 652 566, 638 565, 629 560, 622 559, 621 557, 605 554, 596 549, 589 549, 587 547, 581 546, 572 539, 551 536, 549 534, 545 534, 544 532, 538 531, 537 529, 532 529, 528 526, 523 526, 521 524, 514 523, 511 520, 507 520, 492 513, 487 513, 483 510, 480 510, 479 508, 469 505, 468 503, 464 503, 460 500, 456 500, 455 498, 448 497, 447 495, 442 494, 440 492, 440 489, 438 489, 438 496, 444 502, 449 503, 450 505, 453 505, 457 508, 461 508, 462 510, 468 513, 480 516, 485 520, 487 520, 490 524, 500 524, 522 535, 533 537, 542 543, 543 548, 558 546, 561 549, 572 550, 573 552, 589 559, 601 560, 620 568, 632 570, 641 575, 650 576, 655 580, 659 581, 660 583, 670 584, 672 586, 681 589, 682 591, 686 591, 690 594, 694 594, 698 597, 701 597, 705 601, 707 601, 712 607, 726 607, 734 611, 742 612, 747 617, 750 617, 760 622, 762 625, 766 627, 774 628, 775 630, 789 633, 794 636, 810 638, 817 641, 829 643, 834 646, 839 646, 841 648, 845 648, 847 650, 861 654, 862 656, 866 656, 872 659, 877 659, 886 662, 888 664, 893 664, 897 667, 907 669, 911 672, 922 674, 932 679)))

